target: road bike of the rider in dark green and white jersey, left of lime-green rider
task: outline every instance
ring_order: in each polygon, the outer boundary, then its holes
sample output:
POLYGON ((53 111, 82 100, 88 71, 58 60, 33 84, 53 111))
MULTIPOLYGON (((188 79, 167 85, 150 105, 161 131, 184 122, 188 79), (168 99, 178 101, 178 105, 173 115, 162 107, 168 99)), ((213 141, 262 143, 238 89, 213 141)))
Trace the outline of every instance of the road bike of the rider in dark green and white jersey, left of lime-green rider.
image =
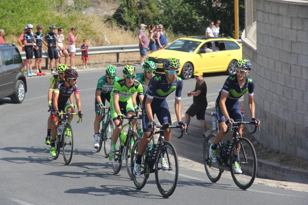
POLYGON ((99 115, 103 112, 102 119, 100 120, 100 123, 102 124, 102 128, 99 131, 99 148, 96 148, 97 152, 100 152, 100 150, 103 147, 104 144, 104 156, 108 157, 110 148, 111 148, 111 139, 112 139, 112 131, 113 131, 113 123, 111 119, 111 111, 110 107, 104 106, 103 109, 99 110, 99 115), (108 111, 106 112, 105 109, 108 111), (106 119, 105 119, 106 117, 106 119))

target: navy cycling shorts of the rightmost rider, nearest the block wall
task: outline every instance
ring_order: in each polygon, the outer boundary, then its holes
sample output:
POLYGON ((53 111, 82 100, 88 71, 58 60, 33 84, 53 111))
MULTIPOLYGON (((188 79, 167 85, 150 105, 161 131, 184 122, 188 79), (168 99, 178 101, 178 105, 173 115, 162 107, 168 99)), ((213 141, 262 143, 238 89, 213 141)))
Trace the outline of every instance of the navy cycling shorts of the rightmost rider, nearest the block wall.
MULTIPOLYGON (((216 107, 216 112, 217 112, 218 123, 226 122, 226 118, 225 118, 224 114, 221 112, 219 100, 216 101, 215 107, 216 107)), ((226 108, 227 108, 227 112, 229 114, 229 117, 232 118, 234 120, 234 122, 243 121, 238 100, 233 105, 230 105, 230 106, 226 105, 226 108)))

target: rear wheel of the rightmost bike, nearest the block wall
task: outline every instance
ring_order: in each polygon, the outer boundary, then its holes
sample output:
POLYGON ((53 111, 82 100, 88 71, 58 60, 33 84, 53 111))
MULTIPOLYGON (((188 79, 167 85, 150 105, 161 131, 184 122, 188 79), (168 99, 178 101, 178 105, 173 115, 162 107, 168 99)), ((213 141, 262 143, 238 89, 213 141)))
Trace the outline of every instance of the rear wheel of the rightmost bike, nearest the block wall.
MULTIPOLYGON (((216 160, 216 162, 212 162, 212 160, 209 157, 209 150, 211 144, 214 143, 215 135, 209 134, 209 136, 205 139, 204 145, 203 145, 203 164, 205 168, 206 175, 208 175, 209 179, 212 182, 217 182, 221 177, 221 171, 219 170, 219 162, 216 160)), ((218 145, 216 149, 216 156, 219 156, 219 152, 221 151, 220 146, 218 145)))

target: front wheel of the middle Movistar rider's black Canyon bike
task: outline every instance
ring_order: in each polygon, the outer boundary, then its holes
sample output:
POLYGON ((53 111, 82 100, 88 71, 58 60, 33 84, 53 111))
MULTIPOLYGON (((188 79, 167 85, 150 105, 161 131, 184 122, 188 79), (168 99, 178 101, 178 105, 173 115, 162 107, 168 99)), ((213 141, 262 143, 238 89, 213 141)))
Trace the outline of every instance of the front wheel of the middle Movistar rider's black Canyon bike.
POLYGON ((176 150, 170 142, 164 142, 156 155, 155 180, 161 195, 168 197, 174 192, 179 176, 176 150), (162 156, 162 157, 161 157, 162 156))

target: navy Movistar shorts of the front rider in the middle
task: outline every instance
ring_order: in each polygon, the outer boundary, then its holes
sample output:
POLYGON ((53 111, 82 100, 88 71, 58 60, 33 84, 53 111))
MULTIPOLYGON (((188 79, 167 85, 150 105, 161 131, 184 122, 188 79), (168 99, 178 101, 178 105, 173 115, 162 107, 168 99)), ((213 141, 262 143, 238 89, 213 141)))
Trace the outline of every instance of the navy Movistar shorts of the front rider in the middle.
MULTIPOLYGON (((150 120, 148 118, 147 112, 145 111, 144 105, 145 103, 142 104, 142 130, 143 132, 151 132, 151 130, 147 127, 147 124, 150 120)), ((156 114, 156 117, 160 124, 165 124, 165 123, 172 124, 169 107, 166 99, 164 99, 164 101, 158 106, 151 104, 151 108, 152 108, 152 115, 154 116, 154 114, 156 114)))

